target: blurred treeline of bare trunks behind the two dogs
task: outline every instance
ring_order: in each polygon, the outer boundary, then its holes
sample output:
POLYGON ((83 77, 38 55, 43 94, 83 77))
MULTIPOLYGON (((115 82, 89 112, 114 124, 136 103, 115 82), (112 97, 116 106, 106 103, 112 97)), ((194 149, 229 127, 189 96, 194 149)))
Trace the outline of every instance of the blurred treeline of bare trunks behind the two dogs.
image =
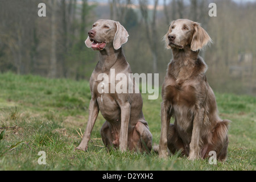
POLYGON ((123 48, 133 73, 159 73, 161 86, 171 59, 162 38, 172 20, 187 18, 213 39, 200 53, 213 89, 255 95, 255 17, 256 2, 231 0, 0 0, 0 72, 89 79, 98 53, 86 48, 87 32, 97 19, 113 19, 130 34, 123 48))

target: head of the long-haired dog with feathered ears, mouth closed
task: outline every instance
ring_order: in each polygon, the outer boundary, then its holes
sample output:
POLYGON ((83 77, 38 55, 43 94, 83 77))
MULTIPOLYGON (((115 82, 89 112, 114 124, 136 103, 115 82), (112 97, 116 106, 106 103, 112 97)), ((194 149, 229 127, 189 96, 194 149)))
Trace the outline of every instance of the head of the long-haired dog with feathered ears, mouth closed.
POLYGON ((192 51, 198 51, 212 42, 204 28, 199 23, 189 19, 172 21, 164 40, 167 49, 183 49, 186 46, 190 46, 192 51))

